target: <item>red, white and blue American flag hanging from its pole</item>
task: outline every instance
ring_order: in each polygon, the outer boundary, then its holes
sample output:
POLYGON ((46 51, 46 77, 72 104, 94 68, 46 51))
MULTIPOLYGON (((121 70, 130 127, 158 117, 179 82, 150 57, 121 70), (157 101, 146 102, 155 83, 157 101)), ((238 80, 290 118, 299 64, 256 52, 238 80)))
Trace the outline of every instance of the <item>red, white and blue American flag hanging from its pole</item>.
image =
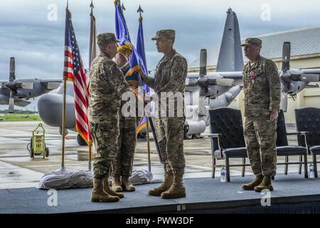
POLYGON ((75 30, 71 21, 71 13, 66 10, 65 15, 65 62, 63 68, 63 78, 73 81, 75 90, 75 128, 79 135, 91 144, 89 120, 87 117, 89 107, 89 78, 85 75, 80 50, 75 30))

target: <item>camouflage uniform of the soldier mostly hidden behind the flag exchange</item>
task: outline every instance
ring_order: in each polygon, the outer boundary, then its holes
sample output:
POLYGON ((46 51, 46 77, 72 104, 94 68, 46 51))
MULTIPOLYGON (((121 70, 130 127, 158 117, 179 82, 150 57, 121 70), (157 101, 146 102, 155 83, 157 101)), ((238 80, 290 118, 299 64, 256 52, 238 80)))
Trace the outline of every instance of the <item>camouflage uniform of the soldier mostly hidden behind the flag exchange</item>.
MULTIPOLYGON (((126 63, 120 68, 125 75, 129 70, 129 63, 126 63)), ((122 76, 124 78, 124 76, 122 76)), ((124 79, 124 83, 127 83, 124 79)), ((129 85, 128 85, 129 86, 129 85)), ((126 101, 122 101, 124 105, 126 101)), ((137 118, 126 117, 119 113, 119 139, 117 157, 112 162, 112 176, 113 177, 131 177, 132 167, 134 162, 134 150, 137 145, 137 118)))

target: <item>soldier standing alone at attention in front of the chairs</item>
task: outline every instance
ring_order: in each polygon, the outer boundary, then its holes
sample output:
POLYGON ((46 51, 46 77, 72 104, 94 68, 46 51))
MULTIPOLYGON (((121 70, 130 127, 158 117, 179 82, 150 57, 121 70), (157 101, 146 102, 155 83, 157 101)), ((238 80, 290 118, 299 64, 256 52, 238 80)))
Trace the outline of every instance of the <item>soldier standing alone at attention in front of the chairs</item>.
POLYGON ((277 117, 280 106, 280 79, 277 66, 260 56, 262 41, 247 38, 243 87, 245 91, 245 141, 255 180, 242 185, 244 190, 273 190, 272 176, 277 168, 277 117))

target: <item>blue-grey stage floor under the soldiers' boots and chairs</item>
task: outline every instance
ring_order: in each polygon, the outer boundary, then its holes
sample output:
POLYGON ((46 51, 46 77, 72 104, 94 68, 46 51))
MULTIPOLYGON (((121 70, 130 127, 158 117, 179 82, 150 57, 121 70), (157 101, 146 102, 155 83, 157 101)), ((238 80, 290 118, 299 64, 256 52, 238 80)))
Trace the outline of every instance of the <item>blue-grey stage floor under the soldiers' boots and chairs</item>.
POLYGON ((125 192, 124 198, 115 203, 90 202, 91 188, 58 190, 56 198, 55 192, 33 187, 0 190, 0 213, 264 213, 276 208, 279 212, 296 212, 299 207, 304 207, 304 212, 312 207, 310 212, 314 212, 320 207, 320 178, 304 179, 304 175, 294 173, 277 175, 274 191, 270 192, 270 207, 261 205, 261 201, 267 202, 262 200, 267 195, 241 189, 242 183, 252 178, 232 176, 231 182, 186 178, 187 197, 181 199, 147 195, 149 188, 159 184, 137 185, 135 192, 125 192), (57 206, 53 205, 55 202, 57 206))

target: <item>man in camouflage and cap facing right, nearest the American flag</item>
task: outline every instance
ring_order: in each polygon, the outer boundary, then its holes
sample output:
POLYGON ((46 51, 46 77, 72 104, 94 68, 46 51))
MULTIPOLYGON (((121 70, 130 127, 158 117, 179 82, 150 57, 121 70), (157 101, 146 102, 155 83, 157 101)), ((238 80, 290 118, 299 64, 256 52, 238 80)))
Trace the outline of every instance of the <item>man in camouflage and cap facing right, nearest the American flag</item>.
POLYGON ((116 202, 123 197, 108 185, 111 163, 117 157, 121 97, 131 91, 112 61, 117 53, 117 42, 114 33, 97 36, 100 55, 92 61, 90 68, 90 133, 97 150, 93 163, 92 202, 116 202))

